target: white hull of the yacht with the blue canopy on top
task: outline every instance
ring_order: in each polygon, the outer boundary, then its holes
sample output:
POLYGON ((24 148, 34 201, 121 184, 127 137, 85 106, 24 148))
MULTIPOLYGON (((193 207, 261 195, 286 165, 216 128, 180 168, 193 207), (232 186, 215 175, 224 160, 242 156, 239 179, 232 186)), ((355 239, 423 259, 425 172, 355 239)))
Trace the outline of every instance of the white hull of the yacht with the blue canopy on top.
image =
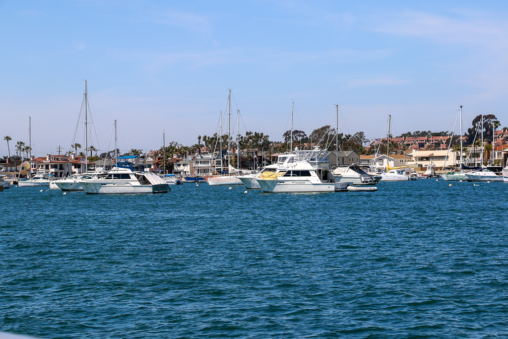
POLYGON ((130 182, 93 182, 81 181, 81 186, 86 194, 152 194, 152 193, 168 193, 169 185, 132 185, 130 182))

